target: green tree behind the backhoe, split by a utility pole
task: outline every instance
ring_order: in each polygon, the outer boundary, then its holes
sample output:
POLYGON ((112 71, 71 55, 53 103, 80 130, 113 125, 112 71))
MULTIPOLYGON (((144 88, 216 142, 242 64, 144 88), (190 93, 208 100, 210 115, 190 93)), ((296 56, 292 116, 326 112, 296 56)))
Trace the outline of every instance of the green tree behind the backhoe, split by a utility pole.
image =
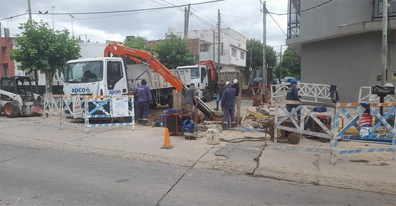
MULTIPOLYGON (((246 68, 250 67, 250 56, 252 52, 252 68, 263 66, 263 43, 258 39, 248 39, 246 41, 247 57, 246 57, 246 68)), ((268 46, 265 50, 265 59, 268 66, 276 66, 277 55, 273 47, 268 46)))

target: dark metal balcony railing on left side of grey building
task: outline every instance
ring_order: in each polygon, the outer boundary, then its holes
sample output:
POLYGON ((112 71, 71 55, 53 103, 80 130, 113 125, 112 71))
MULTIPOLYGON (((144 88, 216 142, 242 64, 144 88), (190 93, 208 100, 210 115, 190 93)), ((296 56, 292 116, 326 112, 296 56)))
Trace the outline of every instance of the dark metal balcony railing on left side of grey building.
POLYGON ((301 0, 289 0, 287 9, 287 38, 300 35, 300 3, 301 0))

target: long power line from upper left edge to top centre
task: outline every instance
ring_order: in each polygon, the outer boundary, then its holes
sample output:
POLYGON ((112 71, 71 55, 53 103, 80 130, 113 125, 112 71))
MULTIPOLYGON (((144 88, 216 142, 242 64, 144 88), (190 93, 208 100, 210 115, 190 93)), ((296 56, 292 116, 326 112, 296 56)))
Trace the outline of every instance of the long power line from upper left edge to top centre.
MULTIPOLYGON (((225 0, 213 0, 213 1, 209 1, 209 2, 201 2, 201 3, 190 4, 190 5, 201 5, 201 4, 209 4, 209 3, 215 3, 215 2, 222 2, 222 1, 225 1, 225 0)), ((178 7, 186 7, 186 6, 188 6, 188 5, 167 6, 167 7, 148 8, 148 9, 138 9, 138 10, 108 11, 108 12, 48 13, 48 14, 42 14, 42 15, 109 14, 109 13, 124 13, 124 12, 139 12, 139 11, 150 11, 150 10, 170 9, 170 8, 178 8, 178 7)), ((32 14, 40 14, 40 13, 32 13, 32 14)), ((26 13, 20 14, 20 15, 14 16, 14 17, 5 18, 5 19, 2 19, 2 20, 0 20, 0 21, 7 20, 7 19, 12 19, 12 18, 19 17, 19 16, 22 16, 22 15, 26 15, 26 13)), ((40 15, 41 15, 41 14, 40 14, 40 15)))

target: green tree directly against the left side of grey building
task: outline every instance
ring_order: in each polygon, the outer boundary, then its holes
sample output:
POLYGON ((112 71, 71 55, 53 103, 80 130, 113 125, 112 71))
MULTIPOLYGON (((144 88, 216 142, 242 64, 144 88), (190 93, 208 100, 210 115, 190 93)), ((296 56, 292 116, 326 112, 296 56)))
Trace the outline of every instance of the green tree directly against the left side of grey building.
MULTIPOLYGON (((297 79, 301 77, 301 58, 292 49, 287 48, 282 56, 282 74, 283 76, 294 76, 297 79)), ((277 68, 280 71, 280 68, 277 68)))

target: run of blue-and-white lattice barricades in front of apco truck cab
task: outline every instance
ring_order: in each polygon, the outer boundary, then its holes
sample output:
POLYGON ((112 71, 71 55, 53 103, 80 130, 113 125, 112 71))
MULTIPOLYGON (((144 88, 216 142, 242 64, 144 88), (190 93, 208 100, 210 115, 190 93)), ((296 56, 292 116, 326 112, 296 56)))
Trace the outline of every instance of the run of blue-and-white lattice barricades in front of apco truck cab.
POLYGON ((131 126, 132 131, 135 129, 135 113, 133 95, 113 95, 113 96, 77 96, 80 97, 81 117, 84 124, 71 123, 64 121, 64 117, 75 116, 72 95, 44 95, 44 115, 56 115, 60 117, 60 129, 62 125, 85 127, 85 133, 89 132, 90 127, 114 127, 114 126, 131 126), (126 123, 105 123, 90 124, 90 119, 121 119, 126 123), (130 118, 130 119, 129 119, 130 118))

